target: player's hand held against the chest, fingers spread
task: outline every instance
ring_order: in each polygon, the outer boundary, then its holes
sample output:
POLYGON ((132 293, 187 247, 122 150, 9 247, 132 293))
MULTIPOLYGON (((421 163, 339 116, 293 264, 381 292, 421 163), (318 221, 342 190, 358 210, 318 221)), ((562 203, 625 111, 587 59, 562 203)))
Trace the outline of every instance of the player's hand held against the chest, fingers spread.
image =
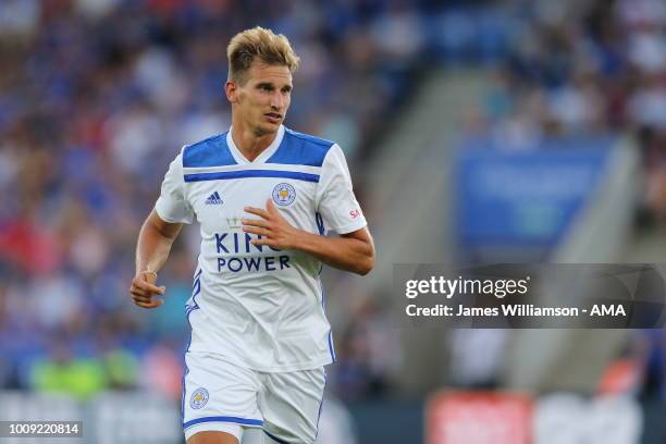
POLYGON ((261 219, 243 219, 243 231, 257 234, 261 238, 252 239, 255 245, 268 245, 275 249, 293 248, 294 239, 298 235, 292 224, 280 213, 271 199, 266 202, 266 210, 255 207, 245 207, 245 212, 260 217, 261 219))

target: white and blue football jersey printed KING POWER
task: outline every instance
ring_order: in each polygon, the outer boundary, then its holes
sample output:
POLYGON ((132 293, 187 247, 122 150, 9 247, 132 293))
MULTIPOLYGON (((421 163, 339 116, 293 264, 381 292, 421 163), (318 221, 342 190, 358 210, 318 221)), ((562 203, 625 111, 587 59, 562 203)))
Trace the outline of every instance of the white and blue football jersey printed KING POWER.
POLYGON ((187 145, 169 168, 156 211, 201 232, 201 252, 186 312, 189 350, 224 355, 258 371, 307 370, 335 360, 324 312, 321 262, 296 250, 256 246, 244 207, 272 199, 299 230, 325 235, 366 226, 341 148, 280 127, 252 162, 231 130, 187 145))

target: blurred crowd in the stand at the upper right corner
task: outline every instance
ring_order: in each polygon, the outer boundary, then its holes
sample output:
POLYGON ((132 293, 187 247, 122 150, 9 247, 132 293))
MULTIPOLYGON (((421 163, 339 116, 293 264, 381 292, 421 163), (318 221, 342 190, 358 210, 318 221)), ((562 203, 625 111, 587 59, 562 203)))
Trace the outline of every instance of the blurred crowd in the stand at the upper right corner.
POLYGON ((514 150, 629 134, 645 172, 639 221, 666 221, 666 3, 510 3, 523 26, 468 132, 514 150))

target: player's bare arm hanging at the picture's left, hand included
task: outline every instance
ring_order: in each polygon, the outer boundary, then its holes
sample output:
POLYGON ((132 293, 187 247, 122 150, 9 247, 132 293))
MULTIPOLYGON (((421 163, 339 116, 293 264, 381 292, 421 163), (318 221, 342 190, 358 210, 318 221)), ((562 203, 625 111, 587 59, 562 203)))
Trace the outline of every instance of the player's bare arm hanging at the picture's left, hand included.
POLYGON ((163 304, 155 299, 164 294, 163 286, 157 286, 157 273, 162 268, 171 246, 181 233, 182 223, 165 222, 155 209, 144 222, 136 244, 136 273, 130 293, 134 304, 144 308, 156 308, 163 304))

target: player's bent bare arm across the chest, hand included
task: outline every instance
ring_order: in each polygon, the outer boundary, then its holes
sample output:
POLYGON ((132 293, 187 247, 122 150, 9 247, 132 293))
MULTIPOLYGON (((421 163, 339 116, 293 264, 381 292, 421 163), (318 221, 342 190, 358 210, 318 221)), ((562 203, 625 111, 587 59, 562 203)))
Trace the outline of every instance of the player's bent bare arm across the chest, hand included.
POLYGON ((361 275, 368 274, 374 267, 374 244, 367 229, 341 237, 325 237, 297 230, 284 219, 270 199, 266 210, 247 207, 245 211, 262 218, 243 220, 243 231, 262 236, 261 239, 252 240, 252 244, 298 249, 331 267, 361 275))

